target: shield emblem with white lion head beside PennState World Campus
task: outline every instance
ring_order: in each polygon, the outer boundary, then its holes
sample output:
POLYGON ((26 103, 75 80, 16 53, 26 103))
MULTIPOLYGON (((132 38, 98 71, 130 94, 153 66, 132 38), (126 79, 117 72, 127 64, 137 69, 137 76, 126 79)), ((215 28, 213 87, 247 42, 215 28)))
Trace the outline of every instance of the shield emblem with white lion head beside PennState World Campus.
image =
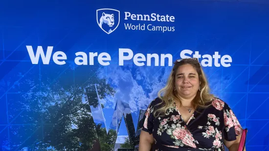
POLYGON ((110 8, 97 9, 96 20, 99 27, 107 34, 110 34, 119 25, 119 11, 110 8))

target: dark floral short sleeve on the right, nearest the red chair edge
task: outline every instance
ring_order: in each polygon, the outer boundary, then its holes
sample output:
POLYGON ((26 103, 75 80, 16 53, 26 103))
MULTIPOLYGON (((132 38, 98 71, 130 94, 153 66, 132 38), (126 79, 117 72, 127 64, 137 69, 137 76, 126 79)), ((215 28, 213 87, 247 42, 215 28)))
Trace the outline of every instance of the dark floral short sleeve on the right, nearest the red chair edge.
POLYGON ((236 136, 241 135, 243 129, 233 113, 232 109, 224 103, 224 138, 226 141, 236 140, 236 136))

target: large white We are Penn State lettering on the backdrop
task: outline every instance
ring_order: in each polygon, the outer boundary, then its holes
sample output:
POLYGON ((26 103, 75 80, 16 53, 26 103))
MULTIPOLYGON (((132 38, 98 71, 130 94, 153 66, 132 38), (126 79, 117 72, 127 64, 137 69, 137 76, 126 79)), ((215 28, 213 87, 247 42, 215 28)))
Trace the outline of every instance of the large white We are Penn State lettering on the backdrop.
MULTIPOLYGON (((42 46, 37 47, 36 54, 33 51, 33 47, 31 45, 26 45, 27 51, 29 53, 29 57, 31 59, 32 64, 38 64, 39 58, 41 56, 42 62, 44 65, 48 65, 51 59, 53 46, 48 46, 46 50, 46 54, 44 53, 44 50, 42 46)), ((133 61, 134 65, 137 66, 151 66, 151 61, 154 60, 154 66, 164 66, 165 62, 168 61, 168 66, 173 65, 173 56, 171 54, 160 54, 160 56, 156 53, 154 54, 142 54, 137 53, 134 54, 134 52, 131 49, 128 48, 119 48, 118 50, 118 63, 119 65, 124 65, 124 62, 127 61, 130 63, 130 61, 133 61), (127 55, 124 55, 126 54, 127 55), (153 59, 154 58, 154 59, 153 59)), ((100 65, 110 65, 111 56, 110 54, 106 52, 101 52, 98 54, 98 52, 89 52, 88 54, 85 52, 76 52, 75 53, 76 58, 74 59, 74 63, 76 65, 94 65, 94 60, 97 59, 98 63, 100 65)), ((181 58, 201 58, 201 54, 199 51, 195 51, 193 54, 193 51, 185 49, 180 52, 181 58), (188 54, 188 55, 186 55, 188 54), (190 56, 193 55, 193 56, 190 56)), ((52 60, 57 65, 65 65, 67 60, 67 55, 63 51, 56 51, 52 55, 52 60)), ((215 52, 213 56, 209 54, 202 55, 202 66, 216 66, 220 67, 221 65, 224 67, 231 66, 230 63, 232 62, 232 58, 229 55, 221 56, 219 55, 219 52, 215 52), (219 60, 220 59, 220 60, 219 60), (220 61, 220 63, 219 63, 220 61)))

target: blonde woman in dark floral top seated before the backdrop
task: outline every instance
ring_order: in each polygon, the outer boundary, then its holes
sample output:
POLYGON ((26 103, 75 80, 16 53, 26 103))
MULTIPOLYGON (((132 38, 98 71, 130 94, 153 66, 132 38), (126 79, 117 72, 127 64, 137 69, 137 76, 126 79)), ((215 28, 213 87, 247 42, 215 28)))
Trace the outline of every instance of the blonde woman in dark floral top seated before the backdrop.
POLYGON ((197 58, 174 64, 141 120, 139 151, 224 151, 224 145, 237 151, 243 129, 231 108, 209 94, 197 58))

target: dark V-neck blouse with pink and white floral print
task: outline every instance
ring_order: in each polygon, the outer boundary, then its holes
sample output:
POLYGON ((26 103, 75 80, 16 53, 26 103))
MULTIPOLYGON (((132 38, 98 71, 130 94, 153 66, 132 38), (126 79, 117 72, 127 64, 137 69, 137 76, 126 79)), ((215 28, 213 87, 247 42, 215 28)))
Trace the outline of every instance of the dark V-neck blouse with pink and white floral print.
POLYGON ((141 120, 142 130, 155 140, 151 151, 224 151, 224 139, 236 140, 243 131, 231 108, 218 98, 212 99, 212 106, 198 108, 186 122, 175 103, 165 116, 154 117, 160 102, 152 101, 141 120))

